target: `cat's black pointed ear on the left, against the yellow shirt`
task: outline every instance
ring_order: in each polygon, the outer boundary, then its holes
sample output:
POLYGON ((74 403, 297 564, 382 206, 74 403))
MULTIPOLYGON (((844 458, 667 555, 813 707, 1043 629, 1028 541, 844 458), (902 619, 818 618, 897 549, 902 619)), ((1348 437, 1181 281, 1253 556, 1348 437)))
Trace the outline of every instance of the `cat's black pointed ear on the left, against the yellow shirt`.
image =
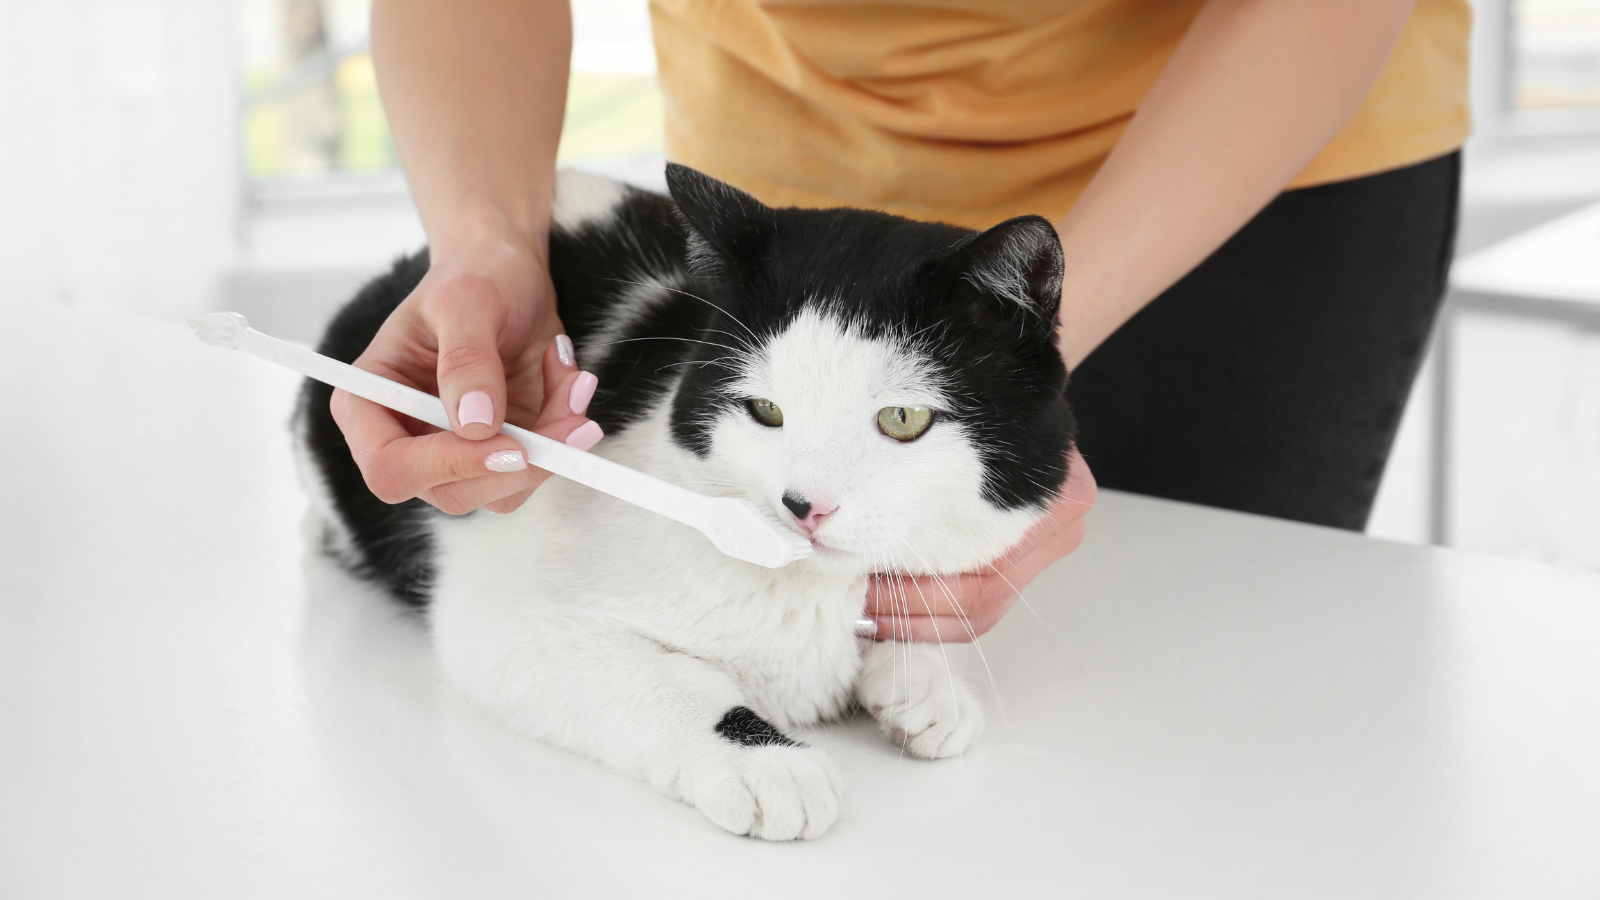
POLYGON ((691 271, 742 269, 766 251, 773 210, 755 197, 678 163, 667 163, 667 191, 690 224, 691 271))

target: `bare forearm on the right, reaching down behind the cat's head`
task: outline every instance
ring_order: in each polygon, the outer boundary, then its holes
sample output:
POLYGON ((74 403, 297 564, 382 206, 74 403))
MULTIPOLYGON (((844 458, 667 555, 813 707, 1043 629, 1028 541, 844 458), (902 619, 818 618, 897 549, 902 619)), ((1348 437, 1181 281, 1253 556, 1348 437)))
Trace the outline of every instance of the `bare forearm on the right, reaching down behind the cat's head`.
POLYGON ((1413 0, 1211 0, 1059 223, 1077 367, 1267 205, 1366 98, 1413 0))

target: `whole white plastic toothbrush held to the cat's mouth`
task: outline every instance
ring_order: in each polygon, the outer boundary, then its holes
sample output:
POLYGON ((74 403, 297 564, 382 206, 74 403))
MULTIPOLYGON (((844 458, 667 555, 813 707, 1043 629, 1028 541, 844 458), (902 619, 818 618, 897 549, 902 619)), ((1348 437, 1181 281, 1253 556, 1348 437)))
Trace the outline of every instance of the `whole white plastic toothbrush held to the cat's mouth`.
MULTIPOLYGON (((307 378, 450 431, 450 415, 438 397, 262 335, 237 312, 213 312, 190 320, 189 327, 208 344, 259 356, 307 378)), ((501 426, 501 434, 522 444, 528 453, 528 464, 626 500, 674 522, 683 522, 734 559, 782 569, 811 556, 811 541, 784 527, 773 512, 763 512, 747 500, 706 496, 510 423, 501 426)))

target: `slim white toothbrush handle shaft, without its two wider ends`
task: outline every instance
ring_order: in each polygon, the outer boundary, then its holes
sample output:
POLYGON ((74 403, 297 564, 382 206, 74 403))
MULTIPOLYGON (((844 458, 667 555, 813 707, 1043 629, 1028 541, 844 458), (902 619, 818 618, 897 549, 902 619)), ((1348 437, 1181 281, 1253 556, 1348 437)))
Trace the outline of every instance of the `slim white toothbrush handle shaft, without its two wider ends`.
MULTIPOLYGON (((261 359, 293 368, 307 378, 315 378, 325 384, 349 391, 357 397, 365 397, 414 420, 426 421, 434 428, 450 431, 450 415, 445 412, 443 400, 416 388, 408 388, 365 368, 355 368, 318 352, 296 348, 294 344, 262 335, 254 328, 243 328, 235 336, 234 346, 261 359)), ((646 476, 645 472, 578 450, 576 447, 568 447, 560 440, 550 440, 542 434, 534 434, 510 423, 501 426, 501 434, 510 436, 517 444, 522 444, 530 466, 555 472, 565 479, 666 516, 667 519, 683 522, 685 525, 699 527, 696 514, 709 498, 693 490, 646 476)))

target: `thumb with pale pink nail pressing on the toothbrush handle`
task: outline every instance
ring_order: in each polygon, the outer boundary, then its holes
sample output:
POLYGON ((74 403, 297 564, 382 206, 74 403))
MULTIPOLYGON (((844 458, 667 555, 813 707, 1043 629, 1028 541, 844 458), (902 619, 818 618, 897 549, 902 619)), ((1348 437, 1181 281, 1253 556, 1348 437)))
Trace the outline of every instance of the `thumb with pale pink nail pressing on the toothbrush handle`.
POLYGON ((469 440, 493 437, 506 421, 506 367, 494 325, 486 312, 466 309, 435 325, 438 399, 454 432, 469 440))

